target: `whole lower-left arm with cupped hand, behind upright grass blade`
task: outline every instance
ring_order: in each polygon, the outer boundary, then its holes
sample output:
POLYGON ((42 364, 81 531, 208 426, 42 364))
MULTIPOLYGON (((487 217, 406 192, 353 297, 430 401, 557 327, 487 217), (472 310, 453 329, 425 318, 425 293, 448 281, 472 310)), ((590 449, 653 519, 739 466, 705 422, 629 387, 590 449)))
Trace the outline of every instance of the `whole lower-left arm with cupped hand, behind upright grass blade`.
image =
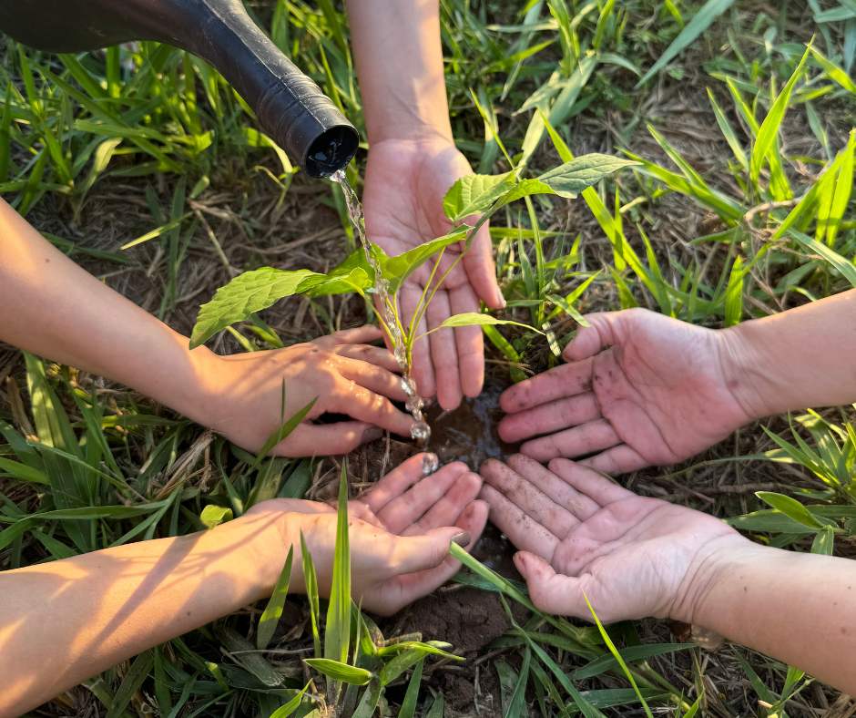
MULTIPOLYGON (((481 481, 463 464, 421 478, 417 455, 349 506, 352 595, 366 610, 392 614, 443 584, 460 565, 450 541, 469 548, 484 528, 481 481)), ((302 592, 301 531, 328 596, 336 519, 273 499, 212 531, 0 573, 0 718, 270 596, 290 546, 290 591, 302 592)))

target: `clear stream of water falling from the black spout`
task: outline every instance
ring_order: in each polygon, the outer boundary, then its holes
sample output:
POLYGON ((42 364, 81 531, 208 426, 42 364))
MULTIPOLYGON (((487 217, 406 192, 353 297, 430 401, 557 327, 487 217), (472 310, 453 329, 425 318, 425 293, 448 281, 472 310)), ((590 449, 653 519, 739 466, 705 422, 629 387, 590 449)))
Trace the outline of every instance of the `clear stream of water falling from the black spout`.
MULTIPOLYGON (((357 199, 357 193, 348 182, 344 169, 334 172, 330 179, 338 182, 341 186, 341 191, 345 196, 345 204, 348 207, 348 216, 351 218, 354 230, 357 231, 357 235, 360 237, 360 243, 362 244, 362 250, 365 251, 366 261, 369 262, 369 266, 374 272, 374 293, 377 295, 381 303, 381 316, 383 318, 383 323, 385 323, 389 328, 395 361, 398 362, 400 367, 402 367, 402 388, 404 393, 407 395, 405 406, 407 407, 407 411, 413 415, 413 426, 410 430, 410 436, 417 442, 418 446, 428 446, 428 440, 431 438, 431 426, 428 426, 425 421, 425 417, 423 416, 422 410, 425 406, 425 400, 416 391, 416 382, 413 381, 413 377, 411 376, 412 367, 408 361, 407 351, 404 348, 404 334, 395 313, 392 312, 392 300, 390 299, 389 292, 390 284, 383 279, 381 274, 381 262, 378 261, 379 257, 376 256, 376 252, 374 251, 372 244, 370 244, 366 239, 365 218, 362 214, 362 204, 360 204, 360 200, 357 199)), ((425 458, 423 458, 423 473, 425 476, 436 471, 437 465, 437 457, 433 454, 426 454, 425 458), (428 461, 429 456, 433 456, 434 464, 429 464, 430 470, 426 473, 426 461, 428 461), (432 466, 433 468, 431 468, 432 466)))

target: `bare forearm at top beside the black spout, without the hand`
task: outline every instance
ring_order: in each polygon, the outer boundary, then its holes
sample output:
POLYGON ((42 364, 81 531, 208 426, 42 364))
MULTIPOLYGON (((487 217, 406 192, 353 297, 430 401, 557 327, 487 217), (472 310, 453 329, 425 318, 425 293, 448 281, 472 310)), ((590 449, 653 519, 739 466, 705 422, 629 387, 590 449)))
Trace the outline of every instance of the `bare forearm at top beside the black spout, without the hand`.
POLYGON ((369 142, 452 139, 437 0, 346 0, 369 142))

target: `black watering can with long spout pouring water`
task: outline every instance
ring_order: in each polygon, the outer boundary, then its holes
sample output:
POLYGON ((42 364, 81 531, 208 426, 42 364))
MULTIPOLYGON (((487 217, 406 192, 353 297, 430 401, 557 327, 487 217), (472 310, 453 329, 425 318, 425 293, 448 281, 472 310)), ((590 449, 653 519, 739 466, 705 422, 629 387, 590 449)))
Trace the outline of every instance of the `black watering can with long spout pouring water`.
POLYGON ((206 60, 312 177, 353 157, 359 135, 250 20, 240 0, 0 0, 0 30, 50 52, 156 40, 206 60))

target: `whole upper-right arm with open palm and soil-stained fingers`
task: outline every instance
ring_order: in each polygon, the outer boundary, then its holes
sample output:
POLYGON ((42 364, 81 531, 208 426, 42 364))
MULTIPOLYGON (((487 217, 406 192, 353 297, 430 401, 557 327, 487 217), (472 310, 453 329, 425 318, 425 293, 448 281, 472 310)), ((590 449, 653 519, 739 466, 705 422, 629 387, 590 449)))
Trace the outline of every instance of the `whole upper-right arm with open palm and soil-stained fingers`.
POLYGON ((521 448, 539 461, 595 454, 585 463, 621 474, 762 416, 856 401, 856 290, 719 331, 644 309, 587 319, 567 364, 500 399, 505 441, 548 435, 521 448))

